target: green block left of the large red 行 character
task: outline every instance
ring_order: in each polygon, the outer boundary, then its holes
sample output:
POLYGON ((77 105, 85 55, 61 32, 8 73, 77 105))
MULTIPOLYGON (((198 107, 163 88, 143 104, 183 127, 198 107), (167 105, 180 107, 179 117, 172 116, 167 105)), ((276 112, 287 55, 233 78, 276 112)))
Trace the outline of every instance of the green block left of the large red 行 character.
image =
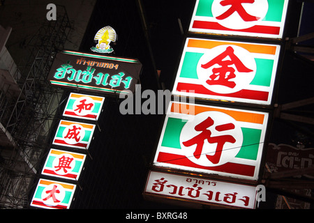
POLYGON ((187 121, 179 118, 168 118, 161 146, 181 148, 180 134, 187 121))

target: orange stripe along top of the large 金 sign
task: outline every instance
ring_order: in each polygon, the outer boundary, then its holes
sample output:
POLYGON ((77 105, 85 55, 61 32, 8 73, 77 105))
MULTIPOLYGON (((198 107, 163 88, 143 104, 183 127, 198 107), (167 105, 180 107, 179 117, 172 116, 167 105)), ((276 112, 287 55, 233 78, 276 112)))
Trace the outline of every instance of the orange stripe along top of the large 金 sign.
POLYGON ((272 54, 272 55, 276 54, 276 47, 269 46, 269 45, 255 45, 255 44, 249 44, 249 43, 230 43, 230 42, 225 42, 225 41, 218 42, 218 41, 211 41, 211 40, 194 40, 194 39, 188 40, 188 47, 211 49, 220 45, 236 45, 236 46, 239 46, 248 50, 248 52, 257 53, 257 54, 272 54))

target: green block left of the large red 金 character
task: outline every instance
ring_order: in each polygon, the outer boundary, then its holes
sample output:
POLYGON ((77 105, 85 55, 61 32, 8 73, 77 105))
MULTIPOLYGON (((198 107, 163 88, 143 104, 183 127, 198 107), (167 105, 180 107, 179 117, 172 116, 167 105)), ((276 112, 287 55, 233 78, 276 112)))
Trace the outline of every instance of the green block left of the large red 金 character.
POLYGON ((182 64, 180 77, 198 79, 197 77, 197 63, 203 56, 201 53, 186 52, 184 55, 184 62, 182 64))

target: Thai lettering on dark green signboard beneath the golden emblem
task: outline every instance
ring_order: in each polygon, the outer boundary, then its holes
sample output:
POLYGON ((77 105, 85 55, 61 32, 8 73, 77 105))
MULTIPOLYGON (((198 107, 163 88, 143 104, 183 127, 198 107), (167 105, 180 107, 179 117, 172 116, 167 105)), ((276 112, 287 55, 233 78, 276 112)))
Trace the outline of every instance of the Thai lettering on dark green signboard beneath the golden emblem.
MULTIPOLYGON (((128 89, 132 82, 132 77, 124 74, 124 72, 119 72, 117 75, 111 75, 108 73, 98 72, 95 73, 96 69, 93 68, 96 61, 85 61, 83 58, 77 59, 77 63, 87 64, 86 70, 75 70, 73 66, 69 63, 61 65, 60 68, 57 68, 57 72, 54 73, 55 79, 67 79, 70 82, 82 82, 84 84, 92 84, 107 86, 110 85, 112 88, 117 88, 119 86, 124 86, 124 89, 128 89), (95 63, 94 63, 95 62, 95 63)), ((100 64, 100 63, 99 63, 100 64)), ((106 68, 118 68, 118 64, 114 63, 103 63, 102 66, 106 68)))

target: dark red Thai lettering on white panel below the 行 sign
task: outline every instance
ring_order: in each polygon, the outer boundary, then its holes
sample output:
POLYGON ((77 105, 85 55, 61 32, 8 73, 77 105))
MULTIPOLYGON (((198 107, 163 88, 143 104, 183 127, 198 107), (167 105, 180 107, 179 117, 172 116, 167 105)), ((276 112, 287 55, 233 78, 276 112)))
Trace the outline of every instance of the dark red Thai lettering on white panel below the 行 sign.
POLYGON ((153 183, 151 190, 163 194, 172 194, 176 197, 185 196, 186 198, 190 197, 193 199, 200 198, 222 204, 239 203, 240 201, 243 206, 248 206, 250 201, 250 197, 239 196, 237 192, 220 192, 219 188, 215 187, 216 182, 211 182, 209 180, 186 178, 186 182, 193 183, 192 186, 187 187, 182 185, 167 184, 168 181, 165 180, 165 178, 156 179, 154 182, 155 183, 153 183), (195 181, 195 183, 193 183, 193 181, 195 181), (210 188, 215 188, 215 190, 211 190, 210 188))

